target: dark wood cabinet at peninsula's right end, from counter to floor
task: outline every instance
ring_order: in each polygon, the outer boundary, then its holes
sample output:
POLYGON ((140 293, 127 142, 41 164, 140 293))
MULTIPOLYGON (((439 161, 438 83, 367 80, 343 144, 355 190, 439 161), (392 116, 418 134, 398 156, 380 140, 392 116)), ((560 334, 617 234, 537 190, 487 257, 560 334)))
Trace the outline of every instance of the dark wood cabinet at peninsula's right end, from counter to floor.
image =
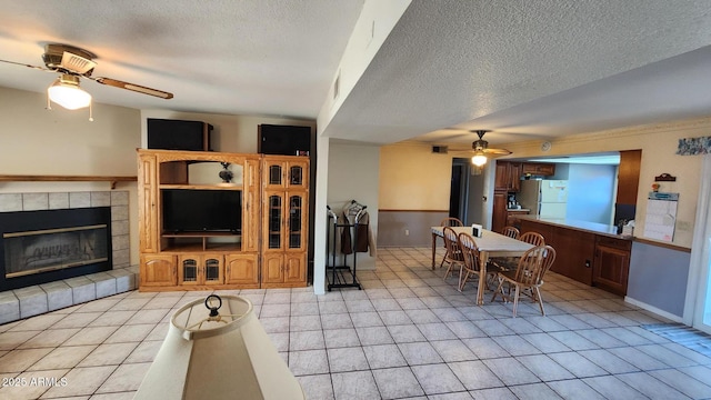
POLYGON ((592 282, 613 293, 627 294, 632 242, 598 236, 592 282))

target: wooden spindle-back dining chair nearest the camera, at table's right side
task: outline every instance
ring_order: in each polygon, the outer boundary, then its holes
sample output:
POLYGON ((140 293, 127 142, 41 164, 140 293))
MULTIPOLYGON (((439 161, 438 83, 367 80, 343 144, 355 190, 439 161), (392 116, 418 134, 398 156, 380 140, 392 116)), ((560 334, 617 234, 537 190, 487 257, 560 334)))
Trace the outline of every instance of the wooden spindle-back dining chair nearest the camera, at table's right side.
POLYGON ((543 284, 543 276, 555 261, 555 249, 550 246, 537 246, 523 253, 515 270, 500 271, 497 273, 499 286, 493 292, 491 301, 501 294, 503 301, 511 301, 511 288, 513 287, 513 317, 515 318, 521 292, 529 296, 532 301, 538 302, 541 313, 545 316, 543 309, 543 298, 540 287, 543 284), (508 286, 507 292, 503 287, 508 286))

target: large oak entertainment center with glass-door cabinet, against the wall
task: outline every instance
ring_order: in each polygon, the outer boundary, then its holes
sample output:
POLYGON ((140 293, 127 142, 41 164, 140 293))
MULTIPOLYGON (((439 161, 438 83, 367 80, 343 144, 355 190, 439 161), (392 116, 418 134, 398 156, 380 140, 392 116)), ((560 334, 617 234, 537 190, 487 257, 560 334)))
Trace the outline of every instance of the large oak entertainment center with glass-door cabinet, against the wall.
POLYGON ((308 179, 308 157, 139 149, 139 289, 304 287, 308 179), (228 168, 234 182, 220 179, 228 168), (231 193, 216 197, 210 194, 219 193, 212 191, 231 193), (219 204, 226 219, 237 220, 237 227, 166 229, 168 220, 184 222, 180 212, 194 217, 204 211, 196 209, 199 197, 196 206, 184 210, 168 207, 167 200, 181 193, 204 193, 206 203, 211 204, 212 198, 222 199, 219 204), (238 201, 224 203, 223 199, 238 201))

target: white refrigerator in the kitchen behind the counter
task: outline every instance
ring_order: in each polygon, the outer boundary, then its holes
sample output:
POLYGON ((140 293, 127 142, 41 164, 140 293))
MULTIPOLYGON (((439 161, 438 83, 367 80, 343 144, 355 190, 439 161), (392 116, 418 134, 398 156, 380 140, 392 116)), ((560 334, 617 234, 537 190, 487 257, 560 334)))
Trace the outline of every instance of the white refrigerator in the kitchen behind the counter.
POLYGON ((568 181, 522 180, 518 201, 539 217, 563 219, 568 207, 568 181))

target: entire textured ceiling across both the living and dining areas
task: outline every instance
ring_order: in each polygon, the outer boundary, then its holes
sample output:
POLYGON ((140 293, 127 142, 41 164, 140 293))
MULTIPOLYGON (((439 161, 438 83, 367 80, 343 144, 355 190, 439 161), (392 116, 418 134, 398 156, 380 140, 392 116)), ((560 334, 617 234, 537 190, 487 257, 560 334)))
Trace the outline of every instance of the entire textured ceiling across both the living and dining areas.
MULTIPOLYGON (((370 1, 370 0, 369 0, 370 1)), ((0 0, 0 59, 41 64, 47 42, 98 54, 84 82, 139 109, 316 119, 363 0, 0 0)), ((375 21, 377 22, 377 21, 375 21)), ((377 24, 373 24, 377 27, 377 24)), ((492 144, 711 113, 711 1, 415 0, 323 134, 492 144)), ((0 63, 0 86, 53 76, 0 63)))

